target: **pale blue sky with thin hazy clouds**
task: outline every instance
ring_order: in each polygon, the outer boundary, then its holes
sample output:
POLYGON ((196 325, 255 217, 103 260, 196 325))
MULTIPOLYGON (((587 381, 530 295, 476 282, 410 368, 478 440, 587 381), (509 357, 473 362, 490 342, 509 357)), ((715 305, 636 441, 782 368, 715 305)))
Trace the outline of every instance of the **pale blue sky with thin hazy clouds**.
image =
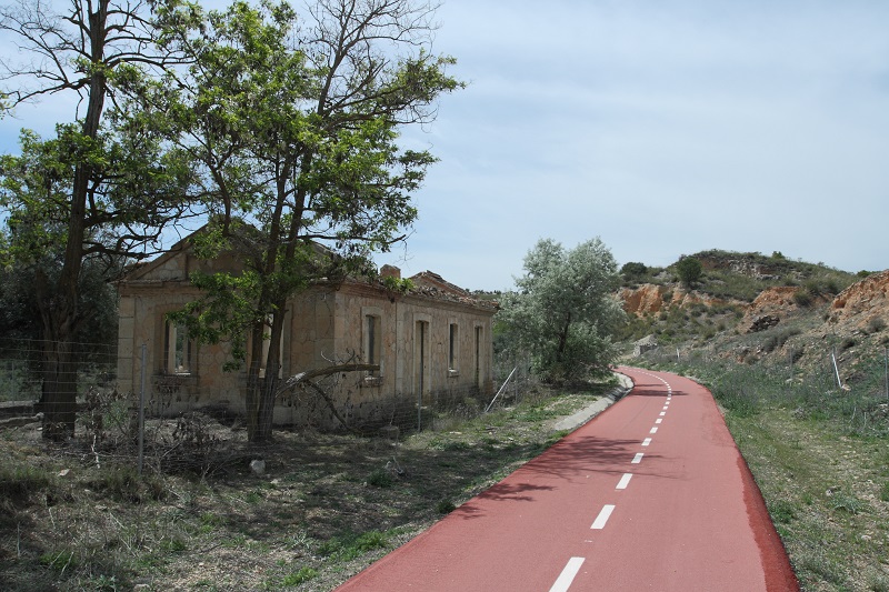
MULTIPOLYGON (((889 268, 889 2, 446 0, 437 21, 468 87, 403 131, 440 161, 379 263, 508 290, 538 240, 599 238, 619 265, 889 268)), ((0 150, 56 109, 0 120, 0 150)))

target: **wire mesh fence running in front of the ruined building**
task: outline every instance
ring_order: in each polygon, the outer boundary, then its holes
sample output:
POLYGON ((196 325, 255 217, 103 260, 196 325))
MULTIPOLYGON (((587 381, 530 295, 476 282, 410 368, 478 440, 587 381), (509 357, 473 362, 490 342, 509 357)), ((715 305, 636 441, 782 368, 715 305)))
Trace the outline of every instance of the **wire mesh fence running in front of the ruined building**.
MULTIPOLYGON (((12 415, 33 421, 41 410, 40 401, 51 384, 46 380, 46 345, 40 341, 0 340, 0 421, 12 415)), ((202 430, 196 414, 230 429, 243 429, 243 373, 237 377, 238 390, 228 393, 212 383, 201 384, 197 375, 150 370, 143 380, 124 384, 117 380, 118 352, 113 348, 78 343, 71 349, 72 361, 64 370, 76 377, 76 397, 70 404, 77 410, 78 438, 118 444, 134 442, 140 399, 144 417, 154 422, 153 438, 181 440, 188 435, 192 444, 202 443, 206 439, 199 433, 202 430), (143 390, 140 383, 144 384, 143 390), (157 428, 159 423, 163 427, 157 428)), ((442 429, 455 420, 521 402, 538 385, 528 369, 527 357, 499 355, 486 388, 478 382, 459 388, 446 383, 422 395, 382 395, 363 374, 338 374, 319 381, 318 389, 293 389, 278 397, 274 422, 286 429, 350 429, 368 433, 384 427, 397 427, 402 432, 442 429), (337 395, 324 397, 319 389, 337 395)))

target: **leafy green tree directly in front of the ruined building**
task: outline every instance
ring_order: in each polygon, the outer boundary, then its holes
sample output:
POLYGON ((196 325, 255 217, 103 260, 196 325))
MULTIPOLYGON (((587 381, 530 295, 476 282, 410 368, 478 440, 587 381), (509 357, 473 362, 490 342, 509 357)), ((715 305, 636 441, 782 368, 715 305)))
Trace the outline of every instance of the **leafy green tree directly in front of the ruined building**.
POLYGON ((271 438, 286 384, 280 349, 263 359, 262 343, 280 342, 288 298, 367 271, 417 217, 411 193, 434 159, 402 149, 399 130, 432 121, 438 97, 461 86, 446 73, 453 60, 428 50, 432 17, 410 0, 320 0, 300 20, 287 3, 234 2, 199 30, 169 31, 192 63, 168 112, 212 213, 194 248, 244 267, 193 274, 204 297, 179 318, 249 360, 250 441, 271 438))

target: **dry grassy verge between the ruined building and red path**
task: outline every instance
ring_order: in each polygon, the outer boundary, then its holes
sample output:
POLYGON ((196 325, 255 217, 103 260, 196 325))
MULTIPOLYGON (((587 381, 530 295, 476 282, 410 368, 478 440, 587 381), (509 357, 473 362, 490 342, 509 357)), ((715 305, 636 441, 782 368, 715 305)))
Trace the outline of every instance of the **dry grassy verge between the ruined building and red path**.
POLYGON ((202 418, 141 479, 113 450, 6 430, 0 589, 331 590, 539 455, 605 390, 527 395, 398 440, 278 432, 259 450, 202 418))

